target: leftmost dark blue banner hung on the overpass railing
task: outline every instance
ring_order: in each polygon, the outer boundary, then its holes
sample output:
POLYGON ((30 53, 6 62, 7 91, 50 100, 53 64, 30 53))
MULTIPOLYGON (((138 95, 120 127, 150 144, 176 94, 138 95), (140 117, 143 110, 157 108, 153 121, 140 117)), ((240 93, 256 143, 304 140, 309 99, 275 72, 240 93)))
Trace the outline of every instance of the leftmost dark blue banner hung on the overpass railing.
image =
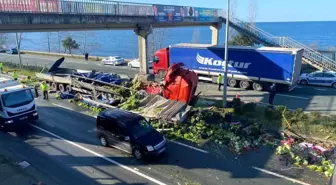
POLYGON ((181 22, 184 8, 181 6, 153 5, 156 22, 181 22))

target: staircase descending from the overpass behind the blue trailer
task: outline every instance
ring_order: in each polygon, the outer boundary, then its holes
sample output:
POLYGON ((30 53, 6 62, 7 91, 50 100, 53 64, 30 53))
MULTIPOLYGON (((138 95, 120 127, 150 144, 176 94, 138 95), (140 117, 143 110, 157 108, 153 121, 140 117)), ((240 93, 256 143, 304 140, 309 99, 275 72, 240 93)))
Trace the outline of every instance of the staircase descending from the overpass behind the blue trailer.
MULTIPOLYGON (((223 21, 225 21, 225 18, 223 21)), ((231 28, 234 28, 241 34, 251 37, 257 44, 284 48, 302 48, 304 49, 302 57, 303 62, 319 70, 336 71, 335 60, 289 37, 276 37, 251 23, 236 18, 230 18, 229 24, 231 28)))

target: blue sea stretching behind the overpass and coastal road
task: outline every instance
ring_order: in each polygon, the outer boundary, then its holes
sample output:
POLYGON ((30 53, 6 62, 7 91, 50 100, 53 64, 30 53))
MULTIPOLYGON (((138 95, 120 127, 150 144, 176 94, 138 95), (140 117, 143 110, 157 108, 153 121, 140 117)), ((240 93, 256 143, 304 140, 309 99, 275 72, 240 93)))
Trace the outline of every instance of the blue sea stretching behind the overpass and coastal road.
MULTIPOLYGON (((312 48, 336 50, 336 21, 330 22, 263 22, 256 23, 260 29, 279 37, 290 37, 312 48)), ((231 30, 231 29, 230 29, 231 30)), ((220 31, 220 44, 224 43, 225 27, 220 31)), ((235 31, 230 31, 230 37, 235 31)), ((23 33, 21 49, 64 52, 62 40, 70 36, 79 45, 74 54, 88 52, 94 56, 121 56, 136 58, 138 40, 133 30, 97 30, 69 32, 23 33)), ((8 35, 7 47, 15 46, 14 34, 8 35)), ((150 51, 178 43, 211 43, 211 30, 203 27, 179 27, 154 29, 148 45, 150 51)))

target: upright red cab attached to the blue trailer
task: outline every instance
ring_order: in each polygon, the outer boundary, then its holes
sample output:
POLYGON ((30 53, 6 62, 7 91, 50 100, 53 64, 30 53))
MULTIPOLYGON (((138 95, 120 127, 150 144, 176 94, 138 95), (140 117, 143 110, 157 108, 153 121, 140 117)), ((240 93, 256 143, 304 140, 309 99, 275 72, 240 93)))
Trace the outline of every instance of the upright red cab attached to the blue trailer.
POLYGON ((153 72, 161 77, 169 68, 169 48, 162 48, 155 52, 153 61, 153 72))

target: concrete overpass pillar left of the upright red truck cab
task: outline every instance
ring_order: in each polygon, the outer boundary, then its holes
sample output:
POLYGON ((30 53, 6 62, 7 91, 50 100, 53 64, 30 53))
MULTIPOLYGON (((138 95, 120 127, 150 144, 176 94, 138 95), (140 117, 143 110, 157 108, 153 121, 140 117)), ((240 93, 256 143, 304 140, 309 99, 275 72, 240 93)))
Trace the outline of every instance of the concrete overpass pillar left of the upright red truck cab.
POLYGON ((138 35, 140 74, 148 74, 148 35, 152 33, 152 26, 139 26, 134 32, 138 35))

